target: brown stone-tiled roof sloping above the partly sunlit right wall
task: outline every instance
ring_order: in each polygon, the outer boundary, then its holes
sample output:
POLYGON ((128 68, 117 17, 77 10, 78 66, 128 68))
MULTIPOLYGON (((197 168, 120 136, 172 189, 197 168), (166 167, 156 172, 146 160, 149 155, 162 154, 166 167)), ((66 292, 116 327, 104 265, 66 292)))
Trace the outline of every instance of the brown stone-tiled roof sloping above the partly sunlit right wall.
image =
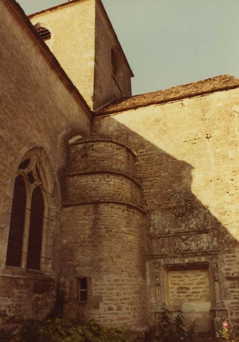
POLYGON ((165 90, 118 99, 101 109, 97 114, 108 114, 137 107, 146 107, 236 87, 239 87, 239 79, 230 75, 221 75, 187 85, 177 85, 165 90))

